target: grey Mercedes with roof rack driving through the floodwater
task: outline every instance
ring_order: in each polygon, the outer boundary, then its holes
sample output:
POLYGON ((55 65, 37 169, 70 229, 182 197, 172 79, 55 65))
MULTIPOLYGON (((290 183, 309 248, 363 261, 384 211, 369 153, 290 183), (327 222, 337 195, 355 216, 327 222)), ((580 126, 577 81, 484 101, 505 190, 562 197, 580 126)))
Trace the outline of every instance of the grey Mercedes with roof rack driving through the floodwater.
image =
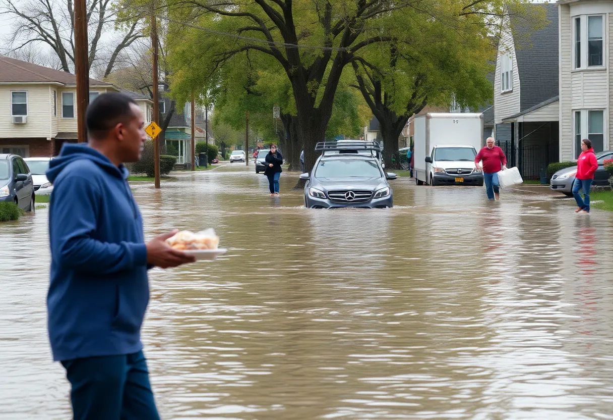
MULTIPOLYGON (((357 143, 357 142, 356 142, 357 143)), ((322 150, 310 174, 300 175, 305 183, 305 207, 309 209, 333 208, 392 208, 394 193, 387 182, 396 179, 393 173, 385 173, 375 153, 367 155, 363 150, 381 152, 378 144, 337 144, 324 142, 315 150, 322 150), (358 152, 359 148, 360 152, 358 152), (338 153, 326 154, 327 150, 338 153)))

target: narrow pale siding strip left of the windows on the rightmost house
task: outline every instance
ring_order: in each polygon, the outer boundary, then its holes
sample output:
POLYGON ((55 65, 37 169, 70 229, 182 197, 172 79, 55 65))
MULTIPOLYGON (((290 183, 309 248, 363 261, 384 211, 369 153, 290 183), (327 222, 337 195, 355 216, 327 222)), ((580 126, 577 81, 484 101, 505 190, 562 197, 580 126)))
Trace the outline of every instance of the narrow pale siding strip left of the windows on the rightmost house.
POLYGON ((570 7, 558 6, 560 34, 560 160, 573 158, 573 118, 571 108, 572 28, 570 7))

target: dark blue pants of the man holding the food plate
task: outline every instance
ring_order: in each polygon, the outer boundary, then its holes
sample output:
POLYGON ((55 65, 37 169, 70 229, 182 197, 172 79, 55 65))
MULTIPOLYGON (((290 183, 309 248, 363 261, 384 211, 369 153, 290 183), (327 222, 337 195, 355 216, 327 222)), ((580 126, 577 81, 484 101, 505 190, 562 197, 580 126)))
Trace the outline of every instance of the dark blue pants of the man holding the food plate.
POLYGON ((159 420, 142 351, 62 364, 74 420, 159 420))

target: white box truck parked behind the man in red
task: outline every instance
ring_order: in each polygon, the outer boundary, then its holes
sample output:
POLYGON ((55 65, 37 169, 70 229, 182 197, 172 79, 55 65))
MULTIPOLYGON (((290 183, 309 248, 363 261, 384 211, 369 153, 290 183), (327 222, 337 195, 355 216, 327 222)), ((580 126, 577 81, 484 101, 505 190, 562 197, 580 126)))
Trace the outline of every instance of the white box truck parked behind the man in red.
POLYGON ((417 185, 483 185, 474 157, 484 147, 483 114, 428 113, 414 123, 417 185))

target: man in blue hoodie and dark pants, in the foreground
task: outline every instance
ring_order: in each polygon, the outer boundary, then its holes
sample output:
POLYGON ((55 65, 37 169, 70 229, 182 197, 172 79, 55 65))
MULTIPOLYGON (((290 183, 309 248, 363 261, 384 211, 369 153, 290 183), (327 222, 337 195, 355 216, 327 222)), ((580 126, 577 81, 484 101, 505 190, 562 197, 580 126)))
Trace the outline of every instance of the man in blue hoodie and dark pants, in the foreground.
POLYGON ((166 239, 145 243, 124 162, 147 136, 139 106, 121 93, 87 109, 88 144, 66 144, 50 163, 53 359, 66 368, 74 419, 159 419, 140 342, 149 301, 147 270, 192 262, 166 239))

